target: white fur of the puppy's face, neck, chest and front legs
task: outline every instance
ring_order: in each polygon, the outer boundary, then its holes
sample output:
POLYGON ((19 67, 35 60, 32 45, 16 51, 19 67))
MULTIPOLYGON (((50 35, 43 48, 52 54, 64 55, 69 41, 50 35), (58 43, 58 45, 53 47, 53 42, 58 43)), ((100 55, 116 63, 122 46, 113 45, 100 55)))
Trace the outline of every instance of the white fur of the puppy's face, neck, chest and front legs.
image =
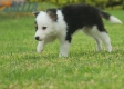
POLYGON ((66 37, 66 23, 63 20, 63 16, 60 10, 56 12, 58 22, 53 22, 45 12, 40 12, 37 17, 38 31, 35 37, 40 37, 37 51, 42 52, 44 46, 51 41, 54 41, 55 38, 60 41, 60 53, 59 57, 68 57, 70 43, 65 41, 66 37), (42 27, 48 27, 46 30, 43 30, 42 27))

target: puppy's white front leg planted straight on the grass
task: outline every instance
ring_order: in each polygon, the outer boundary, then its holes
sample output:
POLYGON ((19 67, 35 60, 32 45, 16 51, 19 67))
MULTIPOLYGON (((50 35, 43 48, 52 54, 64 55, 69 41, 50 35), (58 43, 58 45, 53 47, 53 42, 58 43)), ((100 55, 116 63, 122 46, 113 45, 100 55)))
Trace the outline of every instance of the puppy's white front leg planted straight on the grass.
POLYGON ((71 43, 68 40, 64 42, 61 42, 59 57, 68 57, 68 52, 70 50, 70 44, 71 43))

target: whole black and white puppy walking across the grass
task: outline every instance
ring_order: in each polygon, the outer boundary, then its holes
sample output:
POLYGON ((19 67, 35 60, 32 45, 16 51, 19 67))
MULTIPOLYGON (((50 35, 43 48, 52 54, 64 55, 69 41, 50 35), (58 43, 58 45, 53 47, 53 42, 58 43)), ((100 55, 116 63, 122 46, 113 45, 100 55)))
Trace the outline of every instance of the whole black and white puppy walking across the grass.
POLYGON ((108 52, 112 51, 111 39, 104 28, 102 18, 113 23, 122 23, 117 18, 86 4, 71 4, 61 9, 48 9, 34 12, 37 51, 40 53, 46 43, 60 41, 59 57, 68 57, 72 36, 82 30, 96 42, 96 50, 102 50, 102 42, 108 52))

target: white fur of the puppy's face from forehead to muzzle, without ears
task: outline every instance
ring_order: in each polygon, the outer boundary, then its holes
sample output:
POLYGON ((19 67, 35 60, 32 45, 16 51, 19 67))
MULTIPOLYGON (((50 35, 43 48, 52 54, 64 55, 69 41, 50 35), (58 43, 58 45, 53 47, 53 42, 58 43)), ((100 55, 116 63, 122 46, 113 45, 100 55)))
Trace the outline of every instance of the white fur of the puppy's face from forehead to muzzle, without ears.
POLYGON ((35 37, 39 37, 39 40, 44 40, 48 36, 53 32, 52 20, 45 12, 40 12, 35 19, 38 24, 38 30, 35 37))

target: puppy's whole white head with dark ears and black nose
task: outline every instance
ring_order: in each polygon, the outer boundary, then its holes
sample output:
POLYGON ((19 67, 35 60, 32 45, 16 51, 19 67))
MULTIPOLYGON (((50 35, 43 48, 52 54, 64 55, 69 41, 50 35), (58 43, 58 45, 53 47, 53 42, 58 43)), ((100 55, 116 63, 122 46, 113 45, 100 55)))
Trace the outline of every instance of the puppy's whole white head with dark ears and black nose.
POLYGON ((35 14, 35 40, 42 41, 54 33, 54 22, 58 20, 56 10, 48 9, 45 12, 34 12, 35 14))

